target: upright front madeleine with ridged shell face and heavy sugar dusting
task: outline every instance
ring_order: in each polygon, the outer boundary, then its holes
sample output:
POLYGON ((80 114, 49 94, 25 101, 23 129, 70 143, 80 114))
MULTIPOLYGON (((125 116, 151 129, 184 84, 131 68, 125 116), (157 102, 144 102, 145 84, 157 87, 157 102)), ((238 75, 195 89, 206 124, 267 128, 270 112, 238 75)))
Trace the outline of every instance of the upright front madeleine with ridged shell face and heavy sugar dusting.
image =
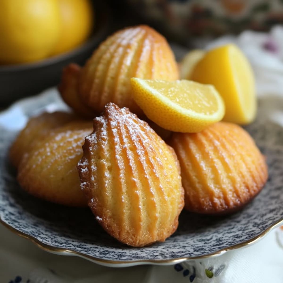
POLYGON ((122 243, 145 246, 177 229, 184 191, 176 155, 128 108, 108 103, 94 119, 78 171, 97 221, 122 243))

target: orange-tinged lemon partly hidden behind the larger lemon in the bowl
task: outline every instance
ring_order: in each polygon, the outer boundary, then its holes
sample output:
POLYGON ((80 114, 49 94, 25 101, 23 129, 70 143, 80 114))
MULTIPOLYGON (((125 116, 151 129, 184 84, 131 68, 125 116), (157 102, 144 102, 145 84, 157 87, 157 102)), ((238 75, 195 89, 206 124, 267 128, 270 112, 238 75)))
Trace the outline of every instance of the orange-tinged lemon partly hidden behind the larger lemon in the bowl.
POLYGON ((60 54, 80 45, 91 33, 93 9, 89 0, 58 0, 63 29, 52 54, 60 54))

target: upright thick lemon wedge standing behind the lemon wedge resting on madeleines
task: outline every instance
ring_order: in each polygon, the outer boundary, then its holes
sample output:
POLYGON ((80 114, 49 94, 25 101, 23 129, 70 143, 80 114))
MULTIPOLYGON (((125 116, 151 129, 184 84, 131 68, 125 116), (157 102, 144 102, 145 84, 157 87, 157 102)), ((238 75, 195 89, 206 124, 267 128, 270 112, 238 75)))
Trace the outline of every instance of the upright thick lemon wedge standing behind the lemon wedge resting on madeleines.
POLYGON ((254 120, 257 108, 254 74, 247 58, 234 44, 205 53, 190 79, 215 86, 225 102, 224 121, 248 124, 254 120))

